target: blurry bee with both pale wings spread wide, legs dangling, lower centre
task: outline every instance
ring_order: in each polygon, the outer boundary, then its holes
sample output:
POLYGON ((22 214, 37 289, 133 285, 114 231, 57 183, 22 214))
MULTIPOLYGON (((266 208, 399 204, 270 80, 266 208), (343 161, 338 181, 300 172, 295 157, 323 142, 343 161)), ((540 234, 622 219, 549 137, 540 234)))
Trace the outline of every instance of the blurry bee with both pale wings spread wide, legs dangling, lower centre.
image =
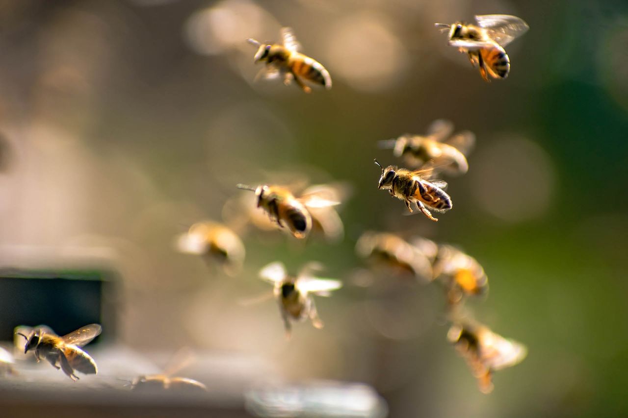
POLYGON ((281 262, 273 262, 259 271, 259 277, 274 285, 274 296, 279 303, 279 311, 283 318, 286 336, 290 338, 290 321, 310 319, 315 328, 323 328, 323 321, 318 312, 312 295, 330 296, 330 292, 340 289, 342 282, 332 279, 313 277, 311 271, 317 264, 306 265, 298 276, 291 276, 281 262))

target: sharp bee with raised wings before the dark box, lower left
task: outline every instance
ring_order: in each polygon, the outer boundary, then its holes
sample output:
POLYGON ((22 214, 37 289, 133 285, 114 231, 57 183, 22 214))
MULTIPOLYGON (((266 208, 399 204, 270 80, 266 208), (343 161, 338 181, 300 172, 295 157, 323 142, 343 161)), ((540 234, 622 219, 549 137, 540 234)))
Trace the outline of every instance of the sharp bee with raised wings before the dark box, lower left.
POLYGON ((94 340, 101 330, 99 324, 89 324, 68 335, 58 336, 47 326, 38 326, 28 336, 20 332, 17 334, 26 338, 24 354, 33 350, 37 362, 43 357, 57 370, 63 370, 72 380, 78 380, 75 370, 86 375, 95 375, 98 372, 94 359, 80 347, 94 340))

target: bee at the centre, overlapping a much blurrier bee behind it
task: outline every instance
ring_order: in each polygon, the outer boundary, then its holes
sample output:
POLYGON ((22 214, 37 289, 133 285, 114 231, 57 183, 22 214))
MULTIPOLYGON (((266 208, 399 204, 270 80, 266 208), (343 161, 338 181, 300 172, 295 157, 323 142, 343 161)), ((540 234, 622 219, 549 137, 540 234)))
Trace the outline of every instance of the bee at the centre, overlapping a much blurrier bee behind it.
POLYGON ((295 238, 305 238, 312 228, 310 208, 327 208, 338 205, 320 193, 308 193, 296 198, 288 188, 283 186, 261 185, 252 188, 237 185, 238 188, 251 190, 257 196, 257 207, 263 208, 271 220, 280 228, 288 227, 295 238))

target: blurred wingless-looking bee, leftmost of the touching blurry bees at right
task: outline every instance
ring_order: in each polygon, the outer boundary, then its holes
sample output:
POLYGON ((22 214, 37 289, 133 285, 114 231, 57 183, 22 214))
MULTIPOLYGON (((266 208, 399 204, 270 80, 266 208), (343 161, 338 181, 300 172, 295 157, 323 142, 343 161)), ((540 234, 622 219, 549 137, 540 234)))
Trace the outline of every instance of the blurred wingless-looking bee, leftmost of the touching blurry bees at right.
POLYGON ((396 271, 431 280, 431 261, 420 249, 409 244, 394 233, 365 232, 355 244, 355 252, 360 257, 382 262, 396 271))

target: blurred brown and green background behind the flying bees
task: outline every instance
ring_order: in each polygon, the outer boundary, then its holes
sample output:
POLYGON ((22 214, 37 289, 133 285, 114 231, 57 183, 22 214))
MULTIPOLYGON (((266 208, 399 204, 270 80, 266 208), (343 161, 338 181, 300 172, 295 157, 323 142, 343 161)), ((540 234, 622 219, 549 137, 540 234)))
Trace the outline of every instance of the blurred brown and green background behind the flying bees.
POLYGON ((367 383, 391 417, 627 410, 624 1, 2 1, 0 51, 1 265, 116 271, 117 344, 367 383), (488 84, 433 23, 493 13, 531 29, 506 48, 509 78, 488 84), (332 90, 252 82, 244 40, 278 40, 281 26, 332 90), (395 163, 378 140, 438 118, 477 142, 468 173, 448 179, 453 210, 431 223, 377 190, 372 161, 395 163), (236 183, 295 172, 352 186, 339 244, 250 233, 236 277, 174 250, 246 193, 236 183), (481 394, 446 340, 440 292, 352 284, 364 230, 467 250, 490 281, 471 309, 528 358, 481 394), (286 341, 276 304, 238 303, 268 289, 257 271, 274 260, 320 260, 345 281, 318 301, 323 330, 296 324, 286 341))

